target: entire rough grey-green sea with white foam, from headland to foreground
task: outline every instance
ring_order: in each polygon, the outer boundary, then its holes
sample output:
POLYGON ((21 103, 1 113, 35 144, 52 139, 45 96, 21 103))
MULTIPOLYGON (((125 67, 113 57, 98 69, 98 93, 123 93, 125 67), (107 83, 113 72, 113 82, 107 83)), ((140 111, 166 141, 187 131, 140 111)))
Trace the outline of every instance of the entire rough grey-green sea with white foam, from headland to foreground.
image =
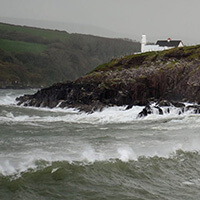
POLYGON ((200 199, 200 115, 16 105, 36 91, 0 90, 0 200, 200 199))

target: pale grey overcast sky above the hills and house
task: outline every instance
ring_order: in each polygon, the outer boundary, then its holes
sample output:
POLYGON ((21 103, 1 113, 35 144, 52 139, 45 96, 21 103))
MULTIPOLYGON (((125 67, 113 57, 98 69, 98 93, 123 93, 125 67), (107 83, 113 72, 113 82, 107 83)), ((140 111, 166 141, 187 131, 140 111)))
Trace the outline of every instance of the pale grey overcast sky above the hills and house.
POLYGON ((0 20, 6 18, 87 25, 88 33, 91 26, 105 36, 139 40, 146 34, 150 41, 171 37, 200 43, 200 0, 0 0, 0 20))

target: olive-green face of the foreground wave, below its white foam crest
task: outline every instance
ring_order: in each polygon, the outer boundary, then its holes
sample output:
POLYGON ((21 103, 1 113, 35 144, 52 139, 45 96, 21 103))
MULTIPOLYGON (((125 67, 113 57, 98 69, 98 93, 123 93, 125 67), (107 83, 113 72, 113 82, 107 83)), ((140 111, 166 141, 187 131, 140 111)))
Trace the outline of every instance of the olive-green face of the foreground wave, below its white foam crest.
POLYGON ((29 168, 19 175, 0 176, 0 197, 13 199, 14 194, 14 199, 23 197, 25 200, 165 199, 166 196, 174 199, 176 195, 176 199, 183 196, 198 199, 199 163, 198 153, 183 151, 177 151, 170 158, 140 157, 129 162, 119 159, 91 163, 38 160, 35 169, 29 168))

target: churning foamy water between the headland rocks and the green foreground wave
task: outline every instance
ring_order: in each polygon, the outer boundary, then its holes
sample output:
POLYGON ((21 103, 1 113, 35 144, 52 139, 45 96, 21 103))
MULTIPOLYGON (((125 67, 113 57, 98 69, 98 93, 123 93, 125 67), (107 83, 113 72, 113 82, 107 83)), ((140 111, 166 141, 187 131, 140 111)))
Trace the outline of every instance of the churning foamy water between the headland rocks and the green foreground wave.
MULTIPOLYGON (((37 171, 55 162, 126 163, 174 158, 180 150, 200 151, 200 116, 191 111, 180 115, 179 108, 165 107, 163 115, 154 109, 138 118, 143 106, 128 110, 122 106, 88 114, 68 108, 13 106, 16 95, 1 94, 0 125, 7 127, 0 130, 2 176, 37 171)), ((56 173, 59 167, 51 171, 56 173)))

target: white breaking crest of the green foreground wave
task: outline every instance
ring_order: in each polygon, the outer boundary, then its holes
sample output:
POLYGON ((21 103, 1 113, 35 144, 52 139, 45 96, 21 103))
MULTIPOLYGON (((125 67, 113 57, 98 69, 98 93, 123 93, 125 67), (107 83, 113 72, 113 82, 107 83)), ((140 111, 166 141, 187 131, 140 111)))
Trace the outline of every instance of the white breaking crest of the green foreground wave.
MULTIPOLYGON (((166 148, 165 150, 146 149, 146 152, 137 152, 130 146, 117 147, 111 151, 100 152, 91 147, 82 148, 82 151, 76 154, 67 154, 67 152, 45 152, 31 151, 26 153, 13 153, 3 155, 0 154, 0 176, 19 177, 27 171, 38 171, 55 163, 68 163, 69 165, 92 165, 94 163, 115 163, 115 162, 140 162, 142 159, 182 159, 187 157, 198 157, 200 162, 200 148, 184 147, 178 144, 174 147, 166 148)), ((52 167, 54 171, 59 166, 52 167)), ((53 173, 53 172, 52 172, 53 173)))

